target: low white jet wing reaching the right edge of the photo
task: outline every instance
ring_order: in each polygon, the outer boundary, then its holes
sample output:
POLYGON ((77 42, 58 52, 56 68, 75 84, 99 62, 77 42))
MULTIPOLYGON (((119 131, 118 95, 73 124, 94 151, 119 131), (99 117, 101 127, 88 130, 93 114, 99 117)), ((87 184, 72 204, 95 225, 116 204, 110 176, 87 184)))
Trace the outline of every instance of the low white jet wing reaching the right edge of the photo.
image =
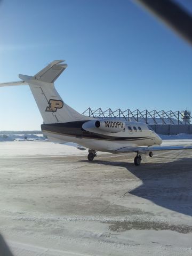
POLYGON ((163 151, 163 150, 183 150, 192 149, 192 145, 179 145, 179 146, 150 146, 150 147, 123 147, 115 150, 117 153, 126 152, 140 152, 141 154, 146 154, 150 151, 163 151))

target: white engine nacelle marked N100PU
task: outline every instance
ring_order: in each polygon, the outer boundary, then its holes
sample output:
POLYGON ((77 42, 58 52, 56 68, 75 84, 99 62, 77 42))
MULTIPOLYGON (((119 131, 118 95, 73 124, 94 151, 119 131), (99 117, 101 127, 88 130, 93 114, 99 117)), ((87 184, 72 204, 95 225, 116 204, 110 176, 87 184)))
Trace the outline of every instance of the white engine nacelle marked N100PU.
POLYGON ((106 132, 121 132, 125 128, 125 123, 117 118, 107 118, 96 121, 95 127, 106 132))

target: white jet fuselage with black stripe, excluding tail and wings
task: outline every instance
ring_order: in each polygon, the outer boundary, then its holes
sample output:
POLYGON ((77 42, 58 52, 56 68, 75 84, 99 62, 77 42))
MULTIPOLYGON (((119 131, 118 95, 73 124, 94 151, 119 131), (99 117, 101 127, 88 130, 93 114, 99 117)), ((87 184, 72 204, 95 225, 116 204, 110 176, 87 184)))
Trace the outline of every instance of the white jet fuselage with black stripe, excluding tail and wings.
POLYGON ((122 122, 117 118, 107 118, 101 120, 101 129, 99 129, 97 122, 100 121, 92 119, 90 121, 43 124, 42 131, 53 142, 75 142, 89 149, 113 153, 116 153, 119 148, 153 146, 162 143, 161 138, 143 123, 122 122), (110 127, 108 122, 111 122, 111 125, 120 123, 118 126, 121 131, 118 131, 117 125, 117 127, 110 127), (105 123, 107 123, 107 127, 105 127, 105 123), (112 132, 113 129, 115 132, 112 132))

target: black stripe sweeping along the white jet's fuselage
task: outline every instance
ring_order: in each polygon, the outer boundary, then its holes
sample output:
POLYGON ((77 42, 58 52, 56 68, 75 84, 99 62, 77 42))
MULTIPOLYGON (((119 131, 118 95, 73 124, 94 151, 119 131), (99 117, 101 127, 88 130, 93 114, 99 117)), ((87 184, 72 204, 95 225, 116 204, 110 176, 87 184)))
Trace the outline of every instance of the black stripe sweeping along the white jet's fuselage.
POLYGON ((99 134, 86 131, 82 125, 87 121, 75 121, 68 123, 55 123, 55 124, 42 124, 41 129, 43 132, 50 132, 76 138, 84 139, 97 139, 97 140, 114 140, 114 141, 129 141, 129 140, 143 140, 150 137, 117 137, 105 134, 99 134))

